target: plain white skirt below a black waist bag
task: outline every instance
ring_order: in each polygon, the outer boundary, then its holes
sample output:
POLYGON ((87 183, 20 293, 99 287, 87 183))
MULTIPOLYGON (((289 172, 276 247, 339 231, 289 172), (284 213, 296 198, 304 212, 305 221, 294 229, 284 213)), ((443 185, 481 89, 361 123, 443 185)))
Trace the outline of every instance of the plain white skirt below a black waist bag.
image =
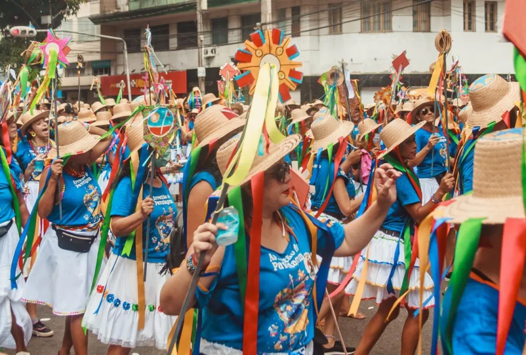
MULTIPOLYGON (((75 233, 93 235, 93 232, 75 233)), ((22 295, 25 302, 47 305, 57 316, 83 314, 92 287, 99 236, 89 252, 77 253, 58 247, 57 234, 49 225, 22 295)), ((101 270, 104 268, 104 258, 101 270)))

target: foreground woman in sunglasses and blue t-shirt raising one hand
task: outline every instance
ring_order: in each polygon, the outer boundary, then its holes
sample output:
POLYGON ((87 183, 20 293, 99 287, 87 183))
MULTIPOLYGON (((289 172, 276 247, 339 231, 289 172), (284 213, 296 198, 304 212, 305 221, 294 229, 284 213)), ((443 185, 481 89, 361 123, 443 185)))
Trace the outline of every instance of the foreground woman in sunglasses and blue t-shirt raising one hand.
MULTIPOLYGON (((258 304, 255 307, 258 308, 257 318, 251 318, 251 322, 244 324, 244 314, 247 311, 250 315, 255 313, 254 308, 245 308, 245 305, 250 306, 255 299, 247 289, 246 302, 241 300, 235 245, 218 246, 215 243, 218 227, 225 229, 224 225, 205 223, 196 229, 186 263, 161 290, 161 307, 169 314, 179 314, 193 273, 201 273, 205 269, 210 273, 206 277, 201 276, 199 288, 191 299, 191 305, 197 302, 202 312, 199 348, 202 354, 240 355, 247 350, 243 349, 244 346, 257 346, 258 353, 312 354, 316 322, 314 305, 315 302, 318 306, 321 304, 328 263, 322 262, 321 271, 317 274, 316 259, 313 260, 311 254, 330 260, 333 255, 357 253, 368 243, 395 200, 394 180, 400 174, 386 164, 376 172, 378 199, 362 217, 342 226, 320 223, 303 215, 301 210, 290 204, 290 167, 283 159, 294 150, 300 139, 294 134, 279 144, 270 143, 270 153, 265 150, 262 156, 256 155, 247 177, 241 182, 242 212, 247 230, 251 230, 252 220, 262 218, 259 233, 261 246, 256 247, 260 252, 260 262, 255 264, 259 273, 248 275, 249 281, 259 275, 258 304), (257 180, 252 179, 254 176, 264 178, 261 191, 264 198, 252 195, 254 189, 251 186, 258 186, 257 180), (260 216, 252 214, 254 204, 255 207, 260 206, 260 216), (317 241, 316 253, 312 250, 315 246, 310 230, 316 233, 312 236, 317 241), (204 266, 196 270, 196 260, 201 252, 206 253, 204 266), (316 279, 318 297, 315 301, 316 279), (252 336, 244 332, 244 327, 253 331, 250 333, 252 336)), ((240 135, 237 135, 219 148, 217 159, 221 172, 225 172, 239 140, 240 135)), ((247 236, 247 246, 250 237, 247 236)))

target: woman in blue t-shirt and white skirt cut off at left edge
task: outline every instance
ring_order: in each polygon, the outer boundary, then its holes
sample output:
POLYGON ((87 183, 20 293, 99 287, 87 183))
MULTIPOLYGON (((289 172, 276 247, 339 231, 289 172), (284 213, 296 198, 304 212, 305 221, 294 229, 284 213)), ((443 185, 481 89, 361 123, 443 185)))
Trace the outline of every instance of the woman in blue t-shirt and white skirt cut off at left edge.
MULTIPOLYGON (((12 112, 6 117, 9 140, 16 138, 17 130, 15 115, 12 112)), ((0 128, 0 133, 2 129, 0 128)), ((6 150, 4 147, 0 147, 6 150)), ((22 194, 24 186, 21 181, 22 170, 18 166, 16 156, 12 155, 9 164, 9 176, 0 169, 0 347, 16 349, 17 352, 27 351, 26 346, 31 339, 33 325, 26 305, 22 300, 25 282, 23 277, 16 280, 16 288, 11 288, 9 270, 18 244, 19 234, 15 221, 16 203, 20 208, 21 223, 24 225, 29 213, 22 194), (14 188, 15 195, 11 191, 14 188)), ((16 274, 20 269, 16 269, 16 274)))

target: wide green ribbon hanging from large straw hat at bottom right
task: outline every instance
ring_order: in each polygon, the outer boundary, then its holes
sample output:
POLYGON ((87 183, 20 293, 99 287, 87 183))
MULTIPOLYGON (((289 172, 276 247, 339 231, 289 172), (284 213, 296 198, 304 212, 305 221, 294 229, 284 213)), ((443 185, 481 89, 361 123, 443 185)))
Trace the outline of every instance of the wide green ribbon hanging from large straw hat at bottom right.
POLYGON ((451 288, 451 303, 449 315, 446 318, 446 325, 442 332, 443 343, 452 354, 452 336, 453 336, 453 321, 457 311, 460 298, 468 283, 469 273, 473 266, 473 260, 477 252, 480 241, 480 231, 482 229, 482 221, 485 218, 469 218, 462 223, 459 228, 457 237, 457 246, 455 247, 455 267, 449 280, 451 288))

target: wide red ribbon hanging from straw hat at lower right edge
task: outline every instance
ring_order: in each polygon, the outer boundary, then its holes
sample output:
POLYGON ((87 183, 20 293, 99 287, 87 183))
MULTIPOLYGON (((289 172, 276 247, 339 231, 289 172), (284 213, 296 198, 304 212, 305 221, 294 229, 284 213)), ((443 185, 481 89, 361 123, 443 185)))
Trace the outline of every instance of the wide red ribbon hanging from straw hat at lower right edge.
POLYGON ((524 261, 526 260, 526 220, 524 218, 507 218, 502 233, 502 250, 500 262, 501 280, 499 292, 499 312, 497 320, 497 351, 502 355, 510 330, 515 302, 519 294, 524 261))

